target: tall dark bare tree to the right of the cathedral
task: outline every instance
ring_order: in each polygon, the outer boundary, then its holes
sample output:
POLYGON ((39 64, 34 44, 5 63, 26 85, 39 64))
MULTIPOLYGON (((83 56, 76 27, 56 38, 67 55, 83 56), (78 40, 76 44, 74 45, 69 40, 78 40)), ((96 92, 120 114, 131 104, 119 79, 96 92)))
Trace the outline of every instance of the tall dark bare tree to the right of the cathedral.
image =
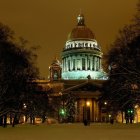
POLYGON ((103 98, 110 102, 110 108, 124 111, 132 122, 134 105, 140 103, 140 1, 138 12, 130 25, 125 25, 111 45, 107 56, 110 68, 109 80, 104 86, 103 98))

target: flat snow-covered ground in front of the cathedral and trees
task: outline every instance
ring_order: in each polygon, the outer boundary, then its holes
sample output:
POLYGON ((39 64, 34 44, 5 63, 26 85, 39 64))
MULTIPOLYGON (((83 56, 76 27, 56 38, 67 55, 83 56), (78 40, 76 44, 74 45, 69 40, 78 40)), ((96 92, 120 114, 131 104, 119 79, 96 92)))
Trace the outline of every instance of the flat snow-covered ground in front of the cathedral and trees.
POLYGON ((140 140, 140 124, 18 125, 0 127, 0 140, 140 140))

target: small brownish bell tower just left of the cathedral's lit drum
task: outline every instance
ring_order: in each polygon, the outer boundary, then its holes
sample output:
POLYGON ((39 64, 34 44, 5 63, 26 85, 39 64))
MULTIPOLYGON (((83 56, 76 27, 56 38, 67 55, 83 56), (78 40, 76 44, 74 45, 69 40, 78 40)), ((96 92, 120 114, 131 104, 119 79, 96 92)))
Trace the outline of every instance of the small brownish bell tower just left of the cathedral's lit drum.
POLYGON ((49 67, 50 71, 50 81, 61 80, 61 63, 55 57, 51 66, 49 67))

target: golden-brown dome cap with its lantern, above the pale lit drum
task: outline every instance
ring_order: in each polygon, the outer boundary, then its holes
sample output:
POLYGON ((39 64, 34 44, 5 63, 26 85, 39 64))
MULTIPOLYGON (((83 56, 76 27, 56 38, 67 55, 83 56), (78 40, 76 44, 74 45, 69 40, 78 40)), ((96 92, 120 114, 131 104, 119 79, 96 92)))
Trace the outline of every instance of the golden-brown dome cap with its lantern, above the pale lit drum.
POLYGON ((69 33, 68 40, 78 40, 78 39, 95 39, 93 32, 86 27, 84 23, 84 16, 80 14, 77 17, 77 26, 69 33))

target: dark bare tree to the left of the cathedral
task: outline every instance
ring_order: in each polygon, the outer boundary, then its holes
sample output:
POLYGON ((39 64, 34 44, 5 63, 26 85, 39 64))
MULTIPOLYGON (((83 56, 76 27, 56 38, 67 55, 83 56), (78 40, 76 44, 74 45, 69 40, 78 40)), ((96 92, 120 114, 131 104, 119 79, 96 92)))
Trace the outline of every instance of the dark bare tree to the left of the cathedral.
POLYGON ((0 23, 0 124, 3 117, 6 120, 7 113, 17 117, 24 98, 33 88, 29 83, 38 76, 33 60, 35 55, 25 46, 22 41, 15 42, 13 31, 0 23))

